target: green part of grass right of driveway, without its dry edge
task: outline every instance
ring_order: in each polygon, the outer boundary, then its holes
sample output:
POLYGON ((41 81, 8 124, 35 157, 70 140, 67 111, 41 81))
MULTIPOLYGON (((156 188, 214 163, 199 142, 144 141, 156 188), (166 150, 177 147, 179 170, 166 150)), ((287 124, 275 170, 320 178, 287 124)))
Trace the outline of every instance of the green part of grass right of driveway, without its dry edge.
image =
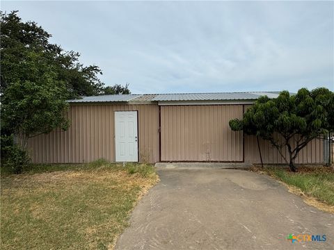
POLYGON ((277 167, 265 170, 281 181, 300 188, 305 194, 334 206, 334 172, 327 167, 301 168, 296 173, 277 167))

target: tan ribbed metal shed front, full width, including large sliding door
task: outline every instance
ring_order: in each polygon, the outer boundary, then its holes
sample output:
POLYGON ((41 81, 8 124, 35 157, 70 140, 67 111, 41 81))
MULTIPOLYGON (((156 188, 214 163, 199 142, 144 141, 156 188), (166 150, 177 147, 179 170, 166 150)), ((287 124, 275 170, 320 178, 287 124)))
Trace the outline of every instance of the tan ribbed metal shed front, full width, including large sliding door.
MULTIPOLYGON (((245 106, 246 110, 247 106, 245 106)), ((82 163, 115 160, 114 111, 138 110, 139 160, 159 160, 159 108, 157 105, 72 105, 67 131, 29 140, 35 163, 82 163)), ((241 118, 242 105, 161 106, 161 160, 241 161, 260 163, 256 138, 230 130, 228 122, 241 118)), ((276 149, 260 140, 264 163, 285 163, 276 149)), ((287 156, 287 152, 284 152, 287 156)), ((296 163, 324 163, 324 142, 313 140, 296 163)))

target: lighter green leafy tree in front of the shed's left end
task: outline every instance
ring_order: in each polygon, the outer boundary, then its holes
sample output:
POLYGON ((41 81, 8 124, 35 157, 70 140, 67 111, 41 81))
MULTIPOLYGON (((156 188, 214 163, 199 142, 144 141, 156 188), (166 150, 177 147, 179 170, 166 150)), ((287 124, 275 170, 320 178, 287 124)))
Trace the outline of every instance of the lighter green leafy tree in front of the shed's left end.
POLYGON ((10 128, 25 151, 28 139, 54 128, 67 129, 66 85, 58 80, 53 66, 43 62, 43 54, 33 51, 22 62, 29 77, 10 83, 1 99, 1 128, 10 128))

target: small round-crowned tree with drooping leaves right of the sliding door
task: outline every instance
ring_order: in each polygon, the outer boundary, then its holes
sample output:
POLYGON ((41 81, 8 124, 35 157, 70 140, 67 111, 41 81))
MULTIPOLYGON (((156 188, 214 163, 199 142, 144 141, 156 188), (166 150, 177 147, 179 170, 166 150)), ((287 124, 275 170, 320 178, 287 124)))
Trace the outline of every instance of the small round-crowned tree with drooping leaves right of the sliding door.
POLYGON ((260 97, 243 119, 230 120, 230 128, 269 140, 296 172, 294 161, 301 149, 334 130, 334 93, 326 88, 302 88, 295 95, 283 91, 276 99, 260 97))

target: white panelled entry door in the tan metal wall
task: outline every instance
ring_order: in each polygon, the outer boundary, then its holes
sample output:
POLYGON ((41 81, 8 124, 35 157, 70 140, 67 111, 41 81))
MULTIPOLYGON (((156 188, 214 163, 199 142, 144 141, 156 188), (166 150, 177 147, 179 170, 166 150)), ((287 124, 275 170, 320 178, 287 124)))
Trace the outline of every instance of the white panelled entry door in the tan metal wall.
POLYGON ((115 112, 116 162, 138 162, 137 111, 115 112))

